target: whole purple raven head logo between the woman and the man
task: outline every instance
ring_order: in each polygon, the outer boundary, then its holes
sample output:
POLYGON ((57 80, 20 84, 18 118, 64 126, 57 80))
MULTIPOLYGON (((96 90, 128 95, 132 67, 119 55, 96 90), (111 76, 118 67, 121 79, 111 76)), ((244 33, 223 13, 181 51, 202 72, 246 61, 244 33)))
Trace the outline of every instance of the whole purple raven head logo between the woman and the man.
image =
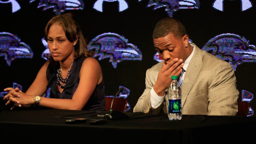
POLYGON ((110 58, 114 68, 117 68, 117 63, 123 60, 141 60, 142 54, 137 46, 128 43, 128 39, 116 33, 103 33, 88 44, 88 50, 94 50, 98 60, 110 58))

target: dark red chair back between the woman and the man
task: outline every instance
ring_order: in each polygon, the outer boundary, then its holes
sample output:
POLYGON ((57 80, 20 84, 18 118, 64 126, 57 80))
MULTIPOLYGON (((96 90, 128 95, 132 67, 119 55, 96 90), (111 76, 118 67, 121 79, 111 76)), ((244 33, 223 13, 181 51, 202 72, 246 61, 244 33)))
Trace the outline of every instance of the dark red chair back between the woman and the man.
MULTIPOLYGON (((106 111, 110 110, 111 103, 114 97, 105 97, 105 107, 106 111)), ((124 112, 127 106, 127 99, 121 98, 121 97, 116 97, 114 99, 113 105, 112 105, 112 110, 113 111, 119 111, 119 112, 124 112)))

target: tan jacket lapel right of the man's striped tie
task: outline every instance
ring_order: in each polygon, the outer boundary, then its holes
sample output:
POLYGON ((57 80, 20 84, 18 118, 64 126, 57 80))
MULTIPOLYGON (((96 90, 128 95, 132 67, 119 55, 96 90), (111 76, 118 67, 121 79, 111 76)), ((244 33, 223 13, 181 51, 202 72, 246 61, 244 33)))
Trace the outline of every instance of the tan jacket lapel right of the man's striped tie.
POLYGON ((198 75, 198 72, 200 71, 201 67, 202 67, 202 51, 201 49, 199 49, 194 43, 193 44, 195 47, 195 51, 194 51, 194 55, 191 58, 187 70, 186 70, 186 74, 184 77, 184 81, 182 84, 182 88, 181 88, 181 107, 183 107, 186 98, 188 96, 188 93, 192 87, 192 85, 194 84, 196 77, 198 75))

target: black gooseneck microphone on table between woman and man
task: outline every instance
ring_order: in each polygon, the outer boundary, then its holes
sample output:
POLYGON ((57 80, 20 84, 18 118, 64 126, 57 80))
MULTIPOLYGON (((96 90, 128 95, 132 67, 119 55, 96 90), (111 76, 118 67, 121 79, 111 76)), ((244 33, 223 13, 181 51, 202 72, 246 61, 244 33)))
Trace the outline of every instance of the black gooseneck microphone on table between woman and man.
POLYGON ((123 87, 121 87, 118 92, 116 93, 116 95, 114 96, 114 98, 112 99, 112 102, 111 102, 111 106, 110 106, 110 110, 109 110, 109 113, 105 114, 104 115, 104 119, 121 119, 121 118, 130 118, 130 116, 122 113, 122 112, 119 112, 119 111, 113 111, 112 110, 112 106, 113 106, 113 103, 114 103, 114 99, 117 97, 117 95, 119 93, 121 93, 123 91, 123 87))

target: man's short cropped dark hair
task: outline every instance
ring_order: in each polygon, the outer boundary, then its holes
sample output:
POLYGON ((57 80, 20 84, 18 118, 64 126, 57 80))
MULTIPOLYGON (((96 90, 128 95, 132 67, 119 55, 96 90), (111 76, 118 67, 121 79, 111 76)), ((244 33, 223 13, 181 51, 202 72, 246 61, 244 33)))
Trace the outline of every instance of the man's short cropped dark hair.
POLYGON ((170 33, 172 33, 176 39, 187 34, 185 27, 179 20, 166 17, 157 22, 153 31, 153 38, 164 37, 170 33))

